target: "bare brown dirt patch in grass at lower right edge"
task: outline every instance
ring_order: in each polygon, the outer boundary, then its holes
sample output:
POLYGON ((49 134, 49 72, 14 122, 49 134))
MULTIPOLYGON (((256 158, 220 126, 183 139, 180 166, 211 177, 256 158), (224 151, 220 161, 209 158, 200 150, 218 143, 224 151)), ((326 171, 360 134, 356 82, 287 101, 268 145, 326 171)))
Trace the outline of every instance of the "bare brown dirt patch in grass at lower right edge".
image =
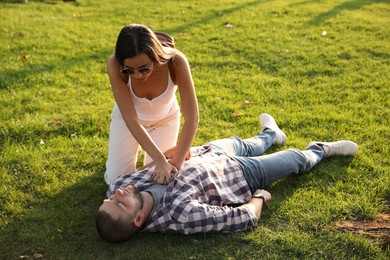
POLYGON ((344 220, 335 223, 337 229, 349 231, 377 241, 383 241, 382 249, 390 247, 390 212, 375 219, 344 220))

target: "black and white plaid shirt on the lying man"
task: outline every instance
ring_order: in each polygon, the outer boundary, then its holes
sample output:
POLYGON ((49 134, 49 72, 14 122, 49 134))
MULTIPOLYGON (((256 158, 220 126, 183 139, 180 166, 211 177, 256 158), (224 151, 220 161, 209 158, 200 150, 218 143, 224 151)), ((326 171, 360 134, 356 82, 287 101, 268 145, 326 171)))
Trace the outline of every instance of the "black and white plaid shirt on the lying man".
MULTIPOLYGON (((120 177, 110 185, 107 196, 129 184, 140 191, 147 189, 155 184, 152 171, 149 168, 120 177)), ((192 234, 247 230, 257 225, 256 216, 247 207, 234 205, 248 202, 251 196, 234 160, 219 151, 200 152, 186 161, 169 182, 143 231, 192 234)))

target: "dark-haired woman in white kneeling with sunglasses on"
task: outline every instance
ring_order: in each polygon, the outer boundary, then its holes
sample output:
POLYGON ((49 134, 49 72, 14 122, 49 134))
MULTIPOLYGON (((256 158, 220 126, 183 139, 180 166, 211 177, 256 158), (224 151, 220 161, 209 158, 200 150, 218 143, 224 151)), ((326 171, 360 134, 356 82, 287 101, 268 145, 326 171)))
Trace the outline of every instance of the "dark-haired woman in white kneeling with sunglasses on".
POLYGON ((111 115, 106 163, 107 184, 136 167, 139 147, 147 153, 145 164, 155 164, 154 181, 168 183, 194 140, 198 127, 198 103, 187 58, 165 47, 156 34, 140 24, 125 26, 107 61, 115 105, 111 115), (179 89, 184 117, 179 136, 179 89), (163 152, 176 146, 167 161, 163 152))

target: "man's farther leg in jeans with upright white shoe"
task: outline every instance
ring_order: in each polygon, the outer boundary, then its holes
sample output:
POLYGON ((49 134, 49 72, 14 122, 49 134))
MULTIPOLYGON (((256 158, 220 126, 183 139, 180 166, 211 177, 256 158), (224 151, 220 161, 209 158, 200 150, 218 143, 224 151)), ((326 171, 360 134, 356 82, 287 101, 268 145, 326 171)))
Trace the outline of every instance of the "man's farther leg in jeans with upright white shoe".
POLYGON ((263 154, 272 144, 282 145, 286 142, 286 135, 277 126, 272 116, 261 114, 260 124, 262 132, 257 136, 244 140, 235 136, 212 141, 208 145, 230 156, 253 157, 263 154))

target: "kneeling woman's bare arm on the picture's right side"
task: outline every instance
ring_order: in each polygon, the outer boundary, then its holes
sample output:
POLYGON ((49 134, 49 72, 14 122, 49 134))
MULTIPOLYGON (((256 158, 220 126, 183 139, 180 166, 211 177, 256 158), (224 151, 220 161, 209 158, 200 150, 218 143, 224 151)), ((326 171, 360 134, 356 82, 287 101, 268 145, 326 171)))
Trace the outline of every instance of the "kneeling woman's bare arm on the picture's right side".
POLYGON ((170 160, 177 169, 181 167, 194 141, 199 123, 199 109, 194 82, 187 58, 180 52, 173 63, 176 84, 178 85, 184 124, 177 143, 177 151, 170 160))

